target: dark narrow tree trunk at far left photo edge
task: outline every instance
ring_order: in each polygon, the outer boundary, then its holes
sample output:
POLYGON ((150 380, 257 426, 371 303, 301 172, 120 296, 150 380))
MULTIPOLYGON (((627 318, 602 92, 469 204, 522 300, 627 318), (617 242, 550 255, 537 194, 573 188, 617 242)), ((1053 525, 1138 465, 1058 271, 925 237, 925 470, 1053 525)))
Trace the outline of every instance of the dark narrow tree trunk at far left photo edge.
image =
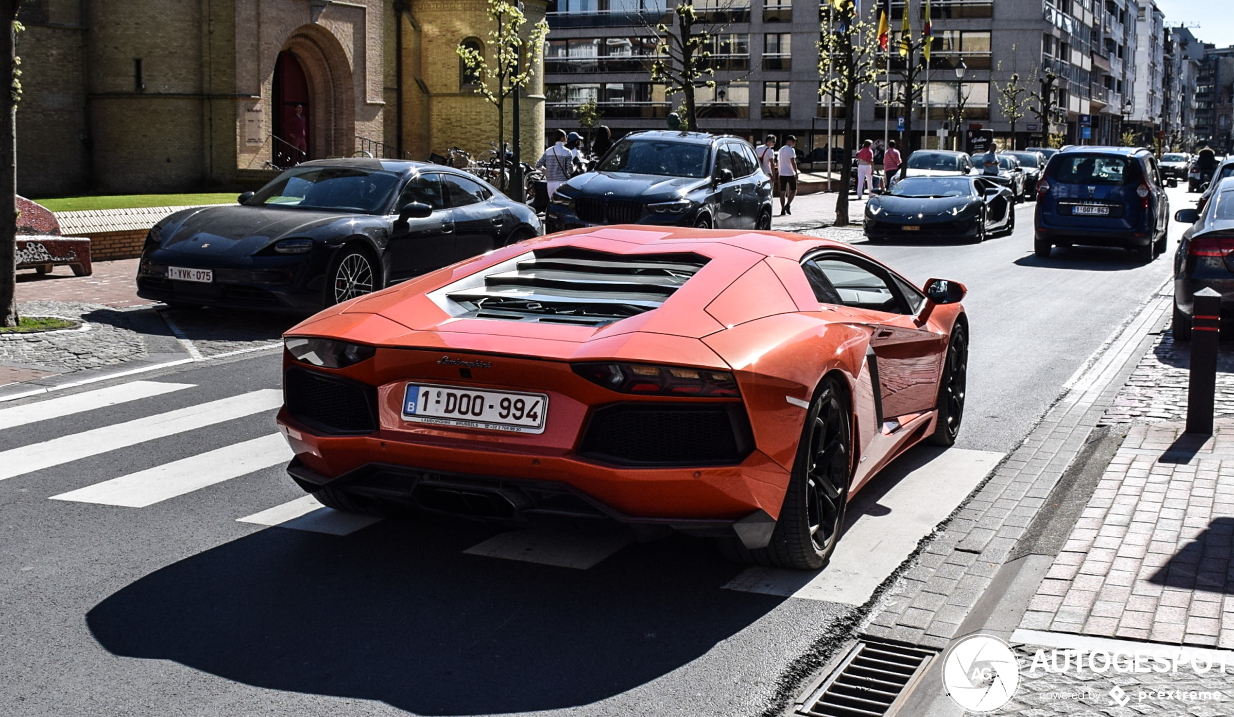
POLYGON ((0 62, 9 67, 6 88, 0 88, 0 326, 17 326, 17 102, 14 100, 12 28, 19 0, 0 0, 0 62))

